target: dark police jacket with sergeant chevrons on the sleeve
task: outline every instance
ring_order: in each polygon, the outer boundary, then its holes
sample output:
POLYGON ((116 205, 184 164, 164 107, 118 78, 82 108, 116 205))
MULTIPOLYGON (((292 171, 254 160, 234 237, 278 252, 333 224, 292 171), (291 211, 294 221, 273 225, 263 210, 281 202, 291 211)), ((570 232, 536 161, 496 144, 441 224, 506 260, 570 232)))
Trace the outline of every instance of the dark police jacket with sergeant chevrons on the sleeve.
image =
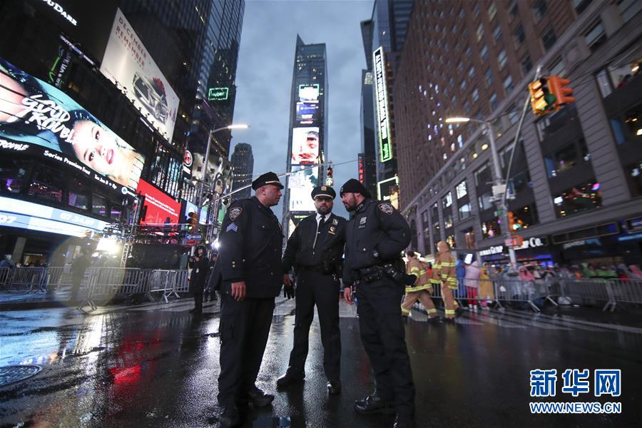
POLYGON ((245 281, 245 297, 276 297, 283 280, 281 225, 256 198, 237 200, 225 213, 219 237, 222 292, 245 281))

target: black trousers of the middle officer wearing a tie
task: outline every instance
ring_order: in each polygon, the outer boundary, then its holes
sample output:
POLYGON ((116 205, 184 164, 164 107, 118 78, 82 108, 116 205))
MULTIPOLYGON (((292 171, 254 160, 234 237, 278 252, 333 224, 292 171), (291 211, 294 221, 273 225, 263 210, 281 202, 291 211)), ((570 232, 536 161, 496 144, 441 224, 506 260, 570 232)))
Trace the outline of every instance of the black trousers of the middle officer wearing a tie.
POLYGON ((288 370, 295 373, 304 372, 310 325, 315 317, 315 305, 317 305, 325 377, 333 381, 339 380, 341 359, 339 289, 332 275, 302 269, 297 276, 296 301, 294 346, 290 352, 288 370))

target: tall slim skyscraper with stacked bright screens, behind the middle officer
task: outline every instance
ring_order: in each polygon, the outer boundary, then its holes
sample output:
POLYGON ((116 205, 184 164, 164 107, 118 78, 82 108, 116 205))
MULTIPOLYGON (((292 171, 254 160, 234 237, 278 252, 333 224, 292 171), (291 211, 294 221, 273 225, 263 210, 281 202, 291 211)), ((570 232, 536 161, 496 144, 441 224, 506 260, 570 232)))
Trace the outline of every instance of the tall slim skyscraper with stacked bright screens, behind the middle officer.
MULTIPOLYGON (((327 154, 327 64, 325 44, 305 44, 297 36, 290 95, 287 176, 283 225, 287 235, 315 211, 310 192, 324 182, 327 154)), ((286 236, 287 236, 286 235, 286 236)))

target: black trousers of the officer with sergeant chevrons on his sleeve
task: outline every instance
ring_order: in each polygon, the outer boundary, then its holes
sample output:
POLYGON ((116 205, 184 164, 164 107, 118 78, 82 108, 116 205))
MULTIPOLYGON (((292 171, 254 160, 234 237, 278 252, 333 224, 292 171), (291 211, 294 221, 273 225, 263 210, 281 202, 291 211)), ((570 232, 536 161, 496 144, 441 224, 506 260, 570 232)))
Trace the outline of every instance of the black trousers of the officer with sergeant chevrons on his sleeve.
POLYGON ((272 325, 274 297, 246 297, 238 302, 224 294, 220 305, 218 403, 231 406, 255 388, 272 325))

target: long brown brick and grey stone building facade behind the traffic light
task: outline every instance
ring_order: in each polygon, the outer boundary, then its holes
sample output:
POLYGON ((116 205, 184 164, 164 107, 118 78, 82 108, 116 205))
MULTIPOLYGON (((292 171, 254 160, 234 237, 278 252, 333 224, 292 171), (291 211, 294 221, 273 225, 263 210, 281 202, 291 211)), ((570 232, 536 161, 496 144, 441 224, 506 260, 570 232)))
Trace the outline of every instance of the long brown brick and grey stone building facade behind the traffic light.
POLYGON ((639 263, 640 11, 626 0, 416 5, 394 86, 414 249, 431 254, 447 240, 459 253, 507 260, 489 136, 476 123, 445 122, 464 116, 492 124, 511 232, 524 240, 518 261, 639 263), (526 85, 538 65, 570 80, 574 103, 531 113, 526 85))

